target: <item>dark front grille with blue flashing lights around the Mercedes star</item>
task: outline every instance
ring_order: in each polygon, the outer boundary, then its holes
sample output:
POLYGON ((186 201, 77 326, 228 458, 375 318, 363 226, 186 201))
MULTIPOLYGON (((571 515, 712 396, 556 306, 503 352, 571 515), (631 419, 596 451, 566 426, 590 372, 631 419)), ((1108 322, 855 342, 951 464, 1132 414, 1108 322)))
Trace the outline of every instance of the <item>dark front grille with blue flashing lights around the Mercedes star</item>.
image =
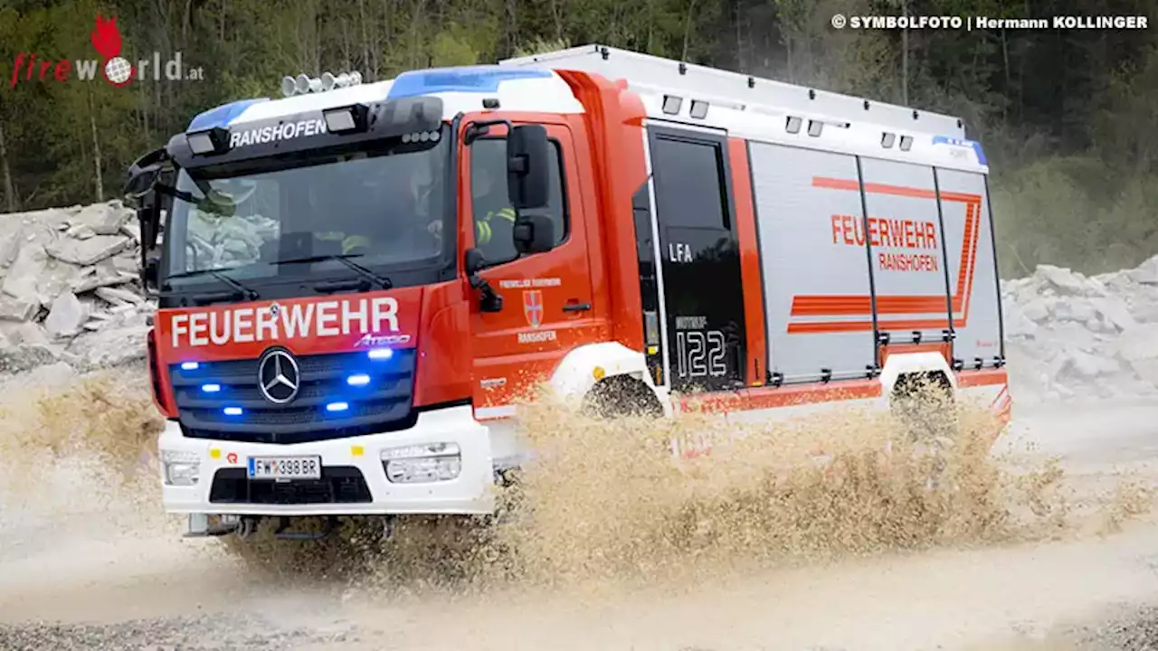
POLYGON ((294 444, 412 426, 415 358, 413 349, 395 350, 389 359, 371 359, 366 351, 296 357, 299 390, 287 404, 262 395, 258 359, 200 363, 196 368, 173 364, 169 378, 186 437, 294 444), (350 386, 352 375, 368 381, 350 386))

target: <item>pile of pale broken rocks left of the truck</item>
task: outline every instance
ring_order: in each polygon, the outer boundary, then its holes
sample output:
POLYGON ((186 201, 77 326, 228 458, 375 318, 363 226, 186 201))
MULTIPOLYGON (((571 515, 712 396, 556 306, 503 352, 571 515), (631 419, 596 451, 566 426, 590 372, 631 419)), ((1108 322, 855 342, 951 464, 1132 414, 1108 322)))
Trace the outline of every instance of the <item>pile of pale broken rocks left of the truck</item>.
POLYGON ((141 359, 140 232, 119 200, 0 215, 0 371, 141 359))

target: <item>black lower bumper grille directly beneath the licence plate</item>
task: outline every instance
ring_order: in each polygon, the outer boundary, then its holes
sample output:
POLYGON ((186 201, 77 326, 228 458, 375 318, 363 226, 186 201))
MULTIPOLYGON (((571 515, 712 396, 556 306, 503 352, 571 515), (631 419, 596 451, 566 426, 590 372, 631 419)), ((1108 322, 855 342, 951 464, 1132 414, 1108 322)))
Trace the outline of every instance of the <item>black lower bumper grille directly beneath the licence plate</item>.
POLYGON ((244 468, 222 468, 213 475, 212 504, 366 504, 369 487, 358 468, 327 466, 321 480, 251 481, 244 468))

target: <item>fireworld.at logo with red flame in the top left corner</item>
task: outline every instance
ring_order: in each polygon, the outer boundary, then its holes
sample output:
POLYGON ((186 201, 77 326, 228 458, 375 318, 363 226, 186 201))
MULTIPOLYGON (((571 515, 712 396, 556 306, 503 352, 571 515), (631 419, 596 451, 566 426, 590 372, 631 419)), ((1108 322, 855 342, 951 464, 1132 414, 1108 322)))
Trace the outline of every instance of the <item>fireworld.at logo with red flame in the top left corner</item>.
POLYGON ((9 86, 16 87, 21 81, 68 81, 78 79, 80 81, 93 81, 101 71, 101 79, 115 87, 129 86, 134 79, 145 81, 161 81, 162 72, 167 81, 200 81, 205 74, 199 67, 186 68, 181 63, 181 52, 176 52, 173 58, 161 61, 161 53, 153 52, 148 59, 139 59, 133 66, 129 59, 120 54, 124 46, 120 39, 120 30, 117 29, 116 16, 105 20, 97 14, 96 25, 89 35, 93 49, 101 56, 101 59, 39 59, 36 53, 20 52, 12 66, 12 81, 9 86), (152 74, 149 71, 152 70, 152 74))

